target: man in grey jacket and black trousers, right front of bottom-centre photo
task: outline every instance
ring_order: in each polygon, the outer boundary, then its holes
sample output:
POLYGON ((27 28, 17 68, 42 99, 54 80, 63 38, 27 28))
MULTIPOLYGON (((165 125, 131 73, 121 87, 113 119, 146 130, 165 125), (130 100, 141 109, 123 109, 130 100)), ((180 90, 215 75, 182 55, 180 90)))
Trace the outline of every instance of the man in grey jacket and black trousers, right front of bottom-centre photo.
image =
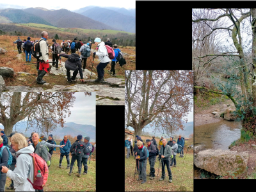
MULTIPOLYGON (((172 182, 172 172, 170 169, 170 158, 172 157, 172 148, 167 145, 166 139, 163 139, 163 145, 159 151, 159 161, 162 163, 162 177, 159 180, 164 180, 165 175, 165 165, 168 170, 169 182, 172 182)), ((160 163, 160 162, 159 162, 160 163)))

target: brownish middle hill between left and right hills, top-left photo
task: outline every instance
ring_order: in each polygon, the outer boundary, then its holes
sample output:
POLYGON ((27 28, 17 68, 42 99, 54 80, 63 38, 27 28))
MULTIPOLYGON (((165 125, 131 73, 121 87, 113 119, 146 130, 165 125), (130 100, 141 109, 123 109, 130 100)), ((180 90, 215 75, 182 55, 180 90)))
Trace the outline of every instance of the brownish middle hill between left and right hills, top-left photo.
POLYGON ((47 22, 59 28, 83 28, 83 29, 113 29, 116 28, 108 26, 97 20, 90 19, 79 13, 70 12, 66 9, 61 10, 47 10, 36 8, 25 9, 24 12, 38 15, 47 22))

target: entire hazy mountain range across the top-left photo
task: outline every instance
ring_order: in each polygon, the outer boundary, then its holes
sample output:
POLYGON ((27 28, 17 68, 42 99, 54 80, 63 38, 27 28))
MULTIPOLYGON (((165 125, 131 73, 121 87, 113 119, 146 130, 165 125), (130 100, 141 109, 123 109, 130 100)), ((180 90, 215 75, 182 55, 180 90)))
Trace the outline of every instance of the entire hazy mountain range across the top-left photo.
POLYGON ((135 9, 86 6, 71 12, 46 8, 0 9, 0 23, 36 23, 58 28, 112 29, 135 33, 135 9))

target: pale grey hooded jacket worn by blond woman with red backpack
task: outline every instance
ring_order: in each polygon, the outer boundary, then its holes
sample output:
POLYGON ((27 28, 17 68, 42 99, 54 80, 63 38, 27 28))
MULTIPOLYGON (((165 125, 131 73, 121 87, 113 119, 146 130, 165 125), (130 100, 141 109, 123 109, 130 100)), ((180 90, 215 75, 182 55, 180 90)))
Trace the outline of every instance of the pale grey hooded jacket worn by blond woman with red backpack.
POLYGON ((21 148, 15 154, 17 157, 15 169, 8 170, 7 177, 13 180, 15 191, 35 191, 31 183, 34 182, 34 164, 33 157, 29 154, 34 152, 34 147, 29 145, 28 147, 21 148), (28 179, 27 179, 28 178, 28 179))

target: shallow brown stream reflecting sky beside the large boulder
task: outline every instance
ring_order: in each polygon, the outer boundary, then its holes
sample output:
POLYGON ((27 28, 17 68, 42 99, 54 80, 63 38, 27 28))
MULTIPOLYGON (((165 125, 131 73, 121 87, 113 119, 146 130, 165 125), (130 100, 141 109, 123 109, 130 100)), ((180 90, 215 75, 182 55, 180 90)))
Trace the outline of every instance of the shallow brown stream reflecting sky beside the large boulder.
POLYGON ((196 126, 194 129, 195 146, 227 150, 228 146, 241 136, 241 122, 221 120, 217 123, 196 126))

